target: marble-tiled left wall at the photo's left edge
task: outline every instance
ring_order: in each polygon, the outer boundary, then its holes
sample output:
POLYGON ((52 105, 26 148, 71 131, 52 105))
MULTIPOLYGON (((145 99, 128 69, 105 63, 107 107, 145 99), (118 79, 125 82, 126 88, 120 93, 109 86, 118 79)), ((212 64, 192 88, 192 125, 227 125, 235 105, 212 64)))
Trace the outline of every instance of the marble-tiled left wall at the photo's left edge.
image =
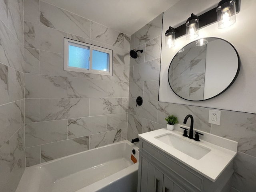
POLYGON ((25 169, 23 0, 0 0, 0 191, 25 169))

